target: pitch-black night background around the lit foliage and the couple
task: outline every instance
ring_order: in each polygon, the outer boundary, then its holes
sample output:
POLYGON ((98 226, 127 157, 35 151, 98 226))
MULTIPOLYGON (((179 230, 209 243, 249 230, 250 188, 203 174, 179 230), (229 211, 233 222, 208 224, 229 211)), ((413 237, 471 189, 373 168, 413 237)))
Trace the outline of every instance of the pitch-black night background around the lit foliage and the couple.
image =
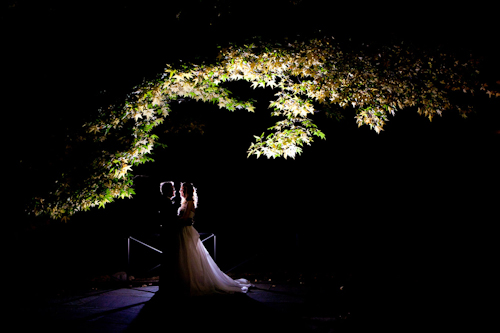
POLYGON ((217 234, 223 269, 258 253, 288 253, 283 260, 299 270, 439 281, 430 284, 453 291, 464 288, 464 276, 491 273, 498 251, 500 114, 498 101, 487 98, 478 99, 469 119, 450 111, 430 123, 402 110, 378 135, 357 128, 354 112, 339 122, 318 113, 314 121, 326 140, 316 139, 295 160, 266 160, 247 158, 246 150, 253 135, 275 122, 267 108, 274 92, 228 85, 244 99, 255 98, 256 113, 194 101, 173 107, 179 119, 185 114, 204 124, 204 134, 159 128, 168 148, 155 150, 154 163, 134 168, 147 177, 136 179, 133 199, 79 213, 66 225, 27 217, 23 208, 64 168, 67 135, 166 63, 210 58, 218 44, 253 36, 326 35, 472 52, 484 58, 485 77, 499 80, 492 11, 424 2, 405 9, 286 0, 71 3, 2 5, 4 138, 13 150, 7 159, 12 171, 4 177, 16 210, 4 224, 14 226, 12 238, 22 247, 16 269, 31 265, 47 280, 123 269, 124 239, 155 228, 152 198, 160 181, 176 178, 197 186, 196 227, 217 234), (368 186, 369 179, 379 185, 368 186))

